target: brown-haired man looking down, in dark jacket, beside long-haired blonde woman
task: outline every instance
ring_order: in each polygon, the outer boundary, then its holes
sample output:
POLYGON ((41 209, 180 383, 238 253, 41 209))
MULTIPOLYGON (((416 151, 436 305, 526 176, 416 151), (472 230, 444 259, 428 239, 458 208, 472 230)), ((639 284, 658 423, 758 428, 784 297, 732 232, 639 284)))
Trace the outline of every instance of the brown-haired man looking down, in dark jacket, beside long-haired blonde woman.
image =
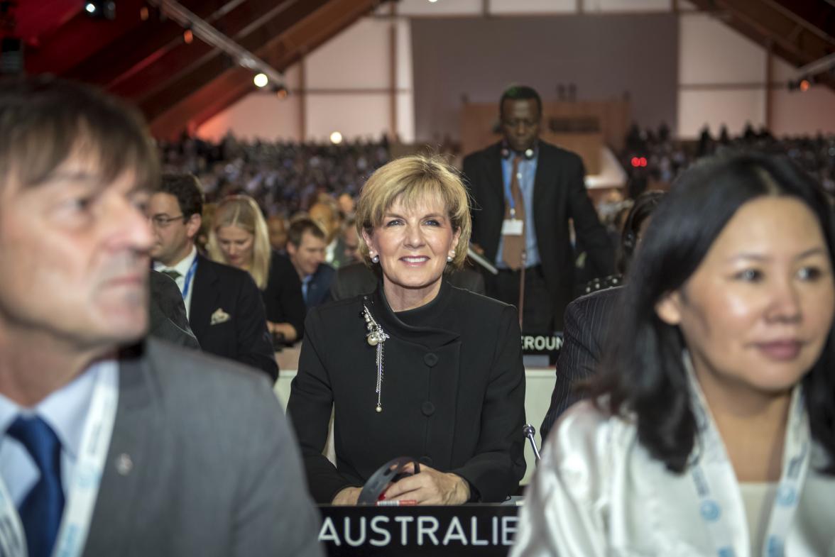
POLYGON ((307 309, 328 300, 336 270, 325 263, 326 234, 311 218, 296 218, 287 230, 287 255, 301 280, 307 309))

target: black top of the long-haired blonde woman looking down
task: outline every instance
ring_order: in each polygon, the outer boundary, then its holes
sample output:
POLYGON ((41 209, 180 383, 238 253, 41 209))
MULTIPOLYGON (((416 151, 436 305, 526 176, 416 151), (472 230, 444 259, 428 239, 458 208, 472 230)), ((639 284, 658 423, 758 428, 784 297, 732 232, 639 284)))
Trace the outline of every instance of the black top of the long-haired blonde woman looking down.
POLYGON ((273 323, 289 323, 299 339, 305 334, 305 300, 301 298, 301 281, 296 268, 286 255, 275 250, 270 255, 270 275, 261 292, 266 319, 273 323))

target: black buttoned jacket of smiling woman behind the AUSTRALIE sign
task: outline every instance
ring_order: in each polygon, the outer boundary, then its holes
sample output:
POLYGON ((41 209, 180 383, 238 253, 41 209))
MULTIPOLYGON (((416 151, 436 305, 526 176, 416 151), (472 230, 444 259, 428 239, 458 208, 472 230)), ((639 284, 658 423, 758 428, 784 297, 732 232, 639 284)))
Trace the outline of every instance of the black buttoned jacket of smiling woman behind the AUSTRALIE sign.
POLYGON ((311 309, 287 414, 313 499, 330 503, 388 460, 419 458, 453 472, 487 502, 524 475, 524 369, 516 310, 443 282, 432 327, 397 319, 378 289, 368 309, 385 343, 382 412, 377 349, 366 342, 363 297, 311 309), (335 468, 321 453, 334 409, 335 468))

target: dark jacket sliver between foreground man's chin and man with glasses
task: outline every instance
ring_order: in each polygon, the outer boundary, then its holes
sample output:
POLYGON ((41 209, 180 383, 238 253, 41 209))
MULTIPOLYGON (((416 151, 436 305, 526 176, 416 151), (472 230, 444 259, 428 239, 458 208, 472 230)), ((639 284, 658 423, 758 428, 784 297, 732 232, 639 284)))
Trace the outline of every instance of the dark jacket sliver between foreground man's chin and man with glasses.
POLYGON ((173 278, 151 270, 149 275, 150 324, 148 334, 190 349, 200 350, 200 344, 191 332, 189 319, 185 317, 183 294, 173 278))

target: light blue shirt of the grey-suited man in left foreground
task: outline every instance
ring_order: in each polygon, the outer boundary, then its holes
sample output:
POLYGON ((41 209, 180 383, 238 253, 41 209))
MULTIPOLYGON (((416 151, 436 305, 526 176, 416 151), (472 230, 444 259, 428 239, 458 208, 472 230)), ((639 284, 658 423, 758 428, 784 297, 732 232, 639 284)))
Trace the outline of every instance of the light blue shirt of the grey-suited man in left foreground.
POLYGON ((6 483, 9 495, 18 509, 29 491, 38 483, 40 471, 23 444, 6 434, 9 426, 20 414, 37 414, 58 435, 61 442, 61 484, 66 497, 67 486, 78 461, 93 390, 99 380, 119 384, 119 364, 116 360, 103 360, 91 365, 34 408, 23 408, 0 393, 0 477, 6 483))

